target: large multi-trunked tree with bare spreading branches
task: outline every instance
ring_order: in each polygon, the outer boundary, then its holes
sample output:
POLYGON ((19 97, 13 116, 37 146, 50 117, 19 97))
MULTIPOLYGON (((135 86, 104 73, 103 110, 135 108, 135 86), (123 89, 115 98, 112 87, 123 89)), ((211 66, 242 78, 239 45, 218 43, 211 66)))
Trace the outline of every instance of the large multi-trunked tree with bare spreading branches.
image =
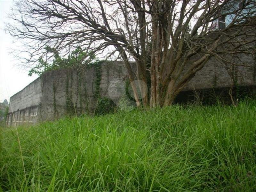
POLYGON ((48 57, 46 45, 63 54, 77 46, 106 58, 118 53, 137 105, 140 92, 144 105, 156 107, 171 105, 211 57, 252 54, 255 11, 255 0, 20 0, 10 14, 16 24, 7 24, 6 31, 31 40, 27 64, 48 57))

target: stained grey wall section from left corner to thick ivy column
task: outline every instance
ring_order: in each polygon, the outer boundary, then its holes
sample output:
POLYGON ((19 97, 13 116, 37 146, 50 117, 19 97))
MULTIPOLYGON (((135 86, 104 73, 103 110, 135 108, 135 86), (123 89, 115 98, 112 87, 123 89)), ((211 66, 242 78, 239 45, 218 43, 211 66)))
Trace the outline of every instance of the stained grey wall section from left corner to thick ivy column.
POLYGON ((48 72, 42 76, 44 91, 40 120, 53 120, 67 114, 75 108, 77 115, 91 110, 87 103, 93 105, 93 86, 95 69, 61 69, 48 72), (69 99, 69 103, 68 103, 69 99))

